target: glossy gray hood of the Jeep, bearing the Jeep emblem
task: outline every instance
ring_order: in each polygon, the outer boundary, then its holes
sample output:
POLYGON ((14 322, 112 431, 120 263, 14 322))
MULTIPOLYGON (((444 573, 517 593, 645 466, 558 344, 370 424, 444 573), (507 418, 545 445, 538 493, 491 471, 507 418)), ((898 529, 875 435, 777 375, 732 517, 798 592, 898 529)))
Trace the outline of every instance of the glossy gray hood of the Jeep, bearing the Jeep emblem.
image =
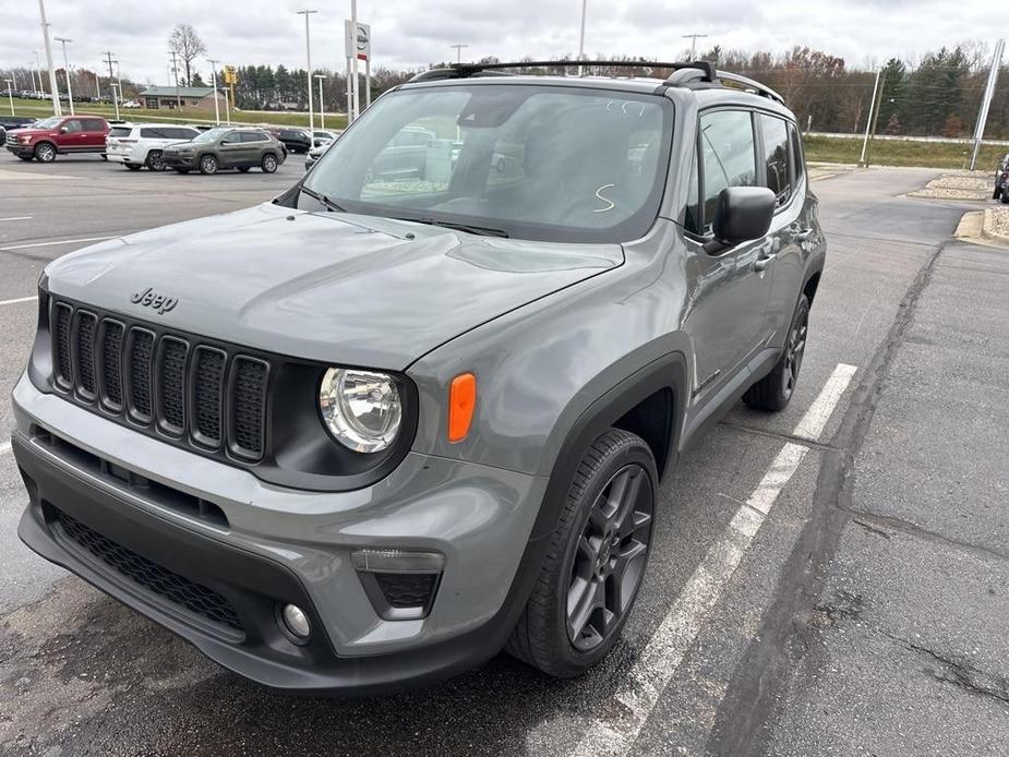
POLYGON ((264 204, 108 240, 55 261, 46 274, 53 296, 167 328, 404 370, 459 334, 623 260, 618 244, 477 237, 264 204), (155 296, 173 307, 156 310, 155 296))

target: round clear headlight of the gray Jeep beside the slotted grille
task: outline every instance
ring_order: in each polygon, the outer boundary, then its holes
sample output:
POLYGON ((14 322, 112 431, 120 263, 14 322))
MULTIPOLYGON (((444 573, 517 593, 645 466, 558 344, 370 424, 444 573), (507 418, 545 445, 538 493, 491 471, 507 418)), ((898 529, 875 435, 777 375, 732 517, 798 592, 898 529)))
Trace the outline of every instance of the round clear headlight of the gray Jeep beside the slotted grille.
POLYGON ((399 434, 399 388, 385 373, 331 368, 319 388, 319 408, 329 433, 356 452, 382 452, 399 434))

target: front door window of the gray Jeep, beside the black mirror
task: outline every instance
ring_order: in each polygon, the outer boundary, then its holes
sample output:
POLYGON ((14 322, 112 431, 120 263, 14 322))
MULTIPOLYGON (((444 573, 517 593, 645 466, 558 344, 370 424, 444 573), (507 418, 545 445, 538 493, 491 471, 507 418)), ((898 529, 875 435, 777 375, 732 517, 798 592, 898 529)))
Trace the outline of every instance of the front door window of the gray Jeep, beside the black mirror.
POLYGON ((714 110, 700 117, 701 172, 704 176, 705 233, 714 221, 718 195, 730 187, 757 184, 754 125, 745 110, 714 110))

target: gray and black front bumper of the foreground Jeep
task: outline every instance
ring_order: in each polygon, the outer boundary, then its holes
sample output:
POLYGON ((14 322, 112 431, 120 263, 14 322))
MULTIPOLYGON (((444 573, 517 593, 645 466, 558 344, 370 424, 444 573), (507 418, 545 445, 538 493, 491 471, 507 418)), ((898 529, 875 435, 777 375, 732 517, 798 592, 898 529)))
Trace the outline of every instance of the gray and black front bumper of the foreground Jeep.
POLYGON ((22 540, 267 686, 372 694, 461 672, 501 649, 539 568, 528 558, 541 554, 528 542, 545 489, 539 478, 411 454, 367 490, 300 492, 96 419, 26 378, 14 409, 13 450, 31 496, 22 540), (105 452, 112 449, 119 454, 105 452), (147 483, 134 486, 123 471, 147 483), (168 488, 214 503, 227 526, 172 507, 158 494, 168 488), (187 591, 214 605, 211 622, 83 549, 89 540, 111 542, 98 552, 121 550, 131 565, 167 573, 159 581, 195 585, 187 591), (360 548, 445 555, 425 618, 380 617, 350 560, 360 548), (309 615, 309 644, 295 644, 277 623, 287 602, 309 615), (221 604, 237 624, 213 622, 221 604))

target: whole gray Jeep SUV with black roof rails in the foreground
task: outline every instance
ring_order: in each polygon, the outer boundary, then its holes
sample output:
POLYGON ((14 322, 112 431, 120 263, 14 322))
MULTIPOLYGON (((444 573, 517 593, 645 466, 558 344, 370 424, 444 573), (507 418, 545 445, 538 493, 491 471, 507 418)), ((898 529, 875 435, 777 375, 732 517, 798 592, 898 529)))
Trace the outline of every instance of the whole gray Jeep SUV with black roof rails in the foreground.
POLYGON ((430 71, 273 202, 50 263, 22 540, 277 688, 597 662, 661 477, 792 396, 825 256, 781 98, 650 65, 430 71))

